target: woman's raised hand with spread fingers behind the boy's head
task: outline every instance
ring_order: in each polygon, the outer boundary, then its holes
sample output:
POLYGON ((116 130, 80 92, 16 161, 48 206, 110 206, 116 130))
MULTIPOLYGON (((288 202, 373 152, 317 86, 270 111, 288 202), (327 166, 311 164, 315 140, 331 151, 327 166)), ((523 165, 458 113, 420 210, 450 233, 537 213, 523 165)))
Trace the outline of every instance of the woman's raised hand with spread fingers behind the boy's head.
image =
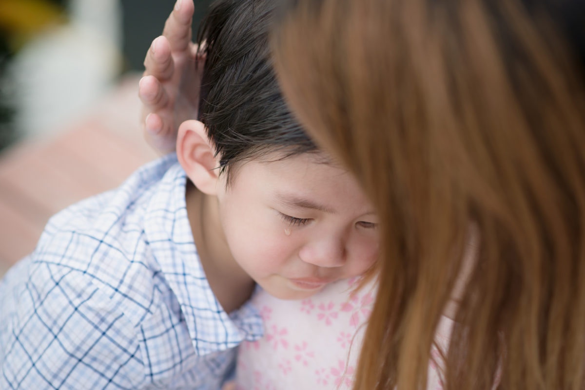
POLYGON ((197 119, 205 58, 197 55, 191 41, 193 11, 192 0, 177 0, 163 35, 153 40, 144 59, 140 120, 144 138, 161 153, 175 149, 177 129, 184 120, 197 119))

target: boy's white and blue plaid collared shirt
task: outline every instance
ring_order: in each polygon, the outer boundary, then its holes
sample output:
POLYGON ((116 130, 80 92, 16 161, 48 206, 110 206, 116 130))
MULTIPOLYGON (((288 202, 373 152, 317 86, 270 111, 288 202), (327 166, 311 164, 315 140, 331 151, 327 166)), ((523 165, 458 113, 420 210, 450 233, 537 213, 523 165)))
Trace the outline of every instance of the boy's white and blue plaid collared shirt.
POLYGON ((55 215, 0 282, 0 389, 218 389, 262 334, 197 255, 176 155, 55 215))

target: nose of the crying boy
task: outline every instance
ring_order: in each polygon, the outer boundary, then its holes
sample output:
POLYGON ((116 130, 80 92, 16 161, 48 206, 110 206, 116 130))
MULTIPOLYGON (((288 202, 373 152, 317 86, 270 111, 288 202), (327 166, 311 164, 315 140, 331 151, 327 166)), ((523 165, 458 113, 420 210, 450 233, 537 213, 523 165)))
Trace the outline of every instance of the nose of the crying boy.
POLYGON ((301 248, 299 257, 319 267, 340 267, 346 260, 345 242, 333 236, 315 238, 301 248))

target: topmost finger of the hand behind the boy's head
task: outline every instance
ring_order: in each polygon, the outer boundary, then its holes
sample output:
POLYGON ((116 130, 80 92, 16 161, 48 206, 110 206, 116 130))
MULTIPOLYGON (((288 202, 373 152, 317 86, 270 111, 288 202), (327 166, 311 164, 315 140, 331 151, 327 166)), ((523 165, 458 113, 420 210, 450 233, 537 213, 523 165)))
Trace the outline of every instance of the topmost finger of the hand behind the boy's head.
POLYGON ((191 43, 191 20, 195 6, 193 0, 177 0, 175 8, 164 23, 163 35, 172 51, 184 51, 191 43))

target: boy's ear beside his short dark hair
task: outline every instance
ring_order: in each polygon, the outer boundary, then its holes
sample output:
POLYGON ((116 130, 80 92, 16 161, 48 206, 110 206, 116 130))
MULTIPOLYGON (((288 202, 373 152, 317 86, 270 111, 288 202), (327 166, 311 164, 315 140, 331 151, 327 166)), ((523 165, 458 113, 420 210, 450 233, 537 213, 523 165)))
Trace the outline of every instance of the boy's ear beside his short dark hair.
POLYGON ((200 191, 208 195, 217 193, 219 161, 203 123, 198 120, 181 123, 177 134, 177 158, 200 191))

